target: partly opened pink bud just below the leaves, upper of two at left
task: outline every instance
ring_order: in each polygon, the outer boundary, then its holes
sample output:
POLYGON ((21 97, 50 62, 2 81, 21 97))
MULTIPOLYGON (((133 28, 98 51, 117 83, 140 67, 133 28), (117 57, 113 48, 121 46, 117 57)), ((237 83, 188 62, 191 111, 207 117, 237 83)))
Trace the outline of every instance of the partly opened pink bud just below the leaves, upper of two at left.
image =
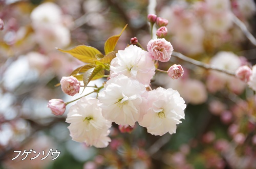
POLYGON ((70 96, 74 96, 80 90, 80 82, 74 76, 62 77, 60 85, 61 90, 70 96))

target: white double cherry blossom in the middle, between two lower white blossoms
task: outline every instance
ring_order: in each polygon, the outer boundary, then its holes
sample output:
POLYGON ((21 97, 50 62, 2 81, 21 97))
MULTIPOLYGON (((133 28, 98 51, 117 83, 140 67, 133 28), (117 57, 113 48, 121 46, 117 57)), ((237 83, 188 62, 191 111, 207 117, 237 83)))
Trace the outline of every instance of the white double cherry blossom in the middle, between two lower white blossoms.
POLYGON ((133 126, 144 115, 145 95, 145 87, 139 81, 123 74, 115 76, 98 94, 102 115, 118 125, 133 126))

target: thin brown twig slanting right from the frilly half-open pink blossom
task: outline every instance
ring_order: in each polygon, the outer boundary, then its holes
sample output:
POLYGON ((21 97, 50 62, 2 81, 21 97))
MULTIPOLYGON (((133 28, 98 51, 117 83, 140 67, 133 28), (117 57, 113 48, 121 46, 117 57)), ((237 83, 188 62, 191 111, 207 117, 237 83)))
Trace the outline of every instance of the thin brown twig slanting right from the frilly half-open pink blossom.
POLYGON ((194 59, 186 57, 185 55, 183 55, 183 54, 181 54, 179 52, 175 52, 174 51, 172 56, 176 57, 176 58, 179 58, 179 59, 181 59, 181 60, 183 60, 185 62, 188 62, 190 64, 193 64, 193 65, 199 66, 201 68, 204 68, 206 70, 216 70, 216 71, 219 71, 219 72, 222 72, 222 73, 226 73, 226 74, 231 75, 231 76, 235 75, 234 72, 231 72, 231 71, 225 70, 225 69, 220 69, 220 68, 217 68, 217 67, 205 64, 203 62, 196 61, 194 59))

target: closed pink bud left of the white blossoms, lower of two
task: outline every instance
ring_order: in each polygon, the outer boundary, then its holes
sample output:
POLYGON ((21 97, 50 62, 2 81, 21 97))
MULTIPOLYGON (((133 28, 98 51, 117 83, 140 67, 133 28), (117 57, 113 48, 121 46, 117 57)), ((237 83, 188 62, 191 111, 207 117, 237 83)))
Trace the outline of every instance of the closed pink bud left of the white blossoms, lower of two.
POLYGON ((47 107, 51 108, 52 114, 55 116, 63 115, 66 110, 66 104, 61 99, 49 100, 47 107))

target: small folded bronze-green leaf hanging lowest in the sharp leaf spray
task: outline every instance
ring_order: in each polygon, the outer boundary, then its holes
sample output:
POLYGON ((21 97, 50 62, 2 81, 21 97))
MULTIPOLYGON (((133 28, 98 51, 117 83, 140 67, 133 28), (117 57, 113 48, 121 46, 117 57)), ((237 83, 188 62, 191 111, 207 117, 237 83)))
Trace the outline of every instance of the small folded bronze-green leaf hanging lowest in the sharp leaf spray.
POLYGON ((104 76, 104 70, 101 65, 97 65, 94 68, 88 69, 86 72, 83 74, 83 83, 84 87, 87 87, 88 83, 92 79, 97 79, 101 78, 104 76))

